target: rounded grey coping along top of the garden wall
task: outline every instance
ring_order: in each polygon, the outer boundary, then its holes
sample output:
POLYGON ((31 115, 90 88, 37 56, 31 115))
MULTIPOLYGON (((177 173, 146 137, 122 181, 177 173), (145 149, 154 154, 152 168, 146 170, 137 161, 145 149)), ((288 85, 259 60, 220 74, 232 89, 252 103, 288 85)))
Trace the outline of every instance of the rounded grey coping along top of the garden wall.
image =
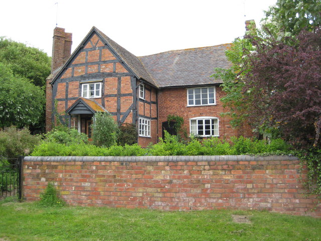
POLYGON ((139 157, 25 157, 27 162, 222 162, 222 161, 297 161, 294 156, 249 156, 249 155, 226 155, 226 156, 139 156, 139 157))

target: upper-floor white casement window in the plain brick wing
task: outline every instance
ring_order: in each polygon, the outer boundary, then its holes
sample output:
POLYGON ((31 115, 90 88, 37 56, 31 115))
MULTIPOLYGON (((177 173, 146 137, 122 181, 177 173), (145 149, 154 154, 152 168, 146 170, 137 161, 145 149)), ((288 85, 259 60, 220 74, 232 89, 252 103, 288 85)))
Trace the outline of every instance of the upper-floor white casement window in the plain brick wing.
POLYGON ((216 104, 215 86, 187 89, 187 105, 211 105, 216 104))

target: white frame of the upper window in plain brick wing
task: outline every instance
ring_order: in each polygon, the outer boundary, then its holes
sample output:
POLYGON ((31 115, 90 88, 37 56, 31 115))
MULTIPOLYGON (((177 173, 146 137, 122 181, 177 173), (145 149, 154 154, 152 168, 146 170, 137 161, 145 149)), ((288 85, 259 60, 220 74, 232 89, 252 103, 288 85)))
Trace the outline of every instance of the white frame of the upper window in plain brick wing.
POLYGON ((216 88, 215 86, 207 86, 207 87, 198 87, 198 88, 188 88, 187 89, 187 106, 201 106, 201 105, 216 105, 216 88), (209 92, 209 89, 213 88, 213 93, 209 92), (202 93, 202 91, 207 90, 206 93, 202 93), (200 93, 196 93, 198 90, 200 90, 200 93), (213 101, 214 103, 209 103, 210 102, 210 94, 213 94, 213 101), (203 95, 206 95, 206 98, 203 95), (190 100, 193 103, 190 103, 190 100), (200 104, 196 104, 196 100, 200 100, 200 104), (207 103, 203 103, 206 102, 207 103))

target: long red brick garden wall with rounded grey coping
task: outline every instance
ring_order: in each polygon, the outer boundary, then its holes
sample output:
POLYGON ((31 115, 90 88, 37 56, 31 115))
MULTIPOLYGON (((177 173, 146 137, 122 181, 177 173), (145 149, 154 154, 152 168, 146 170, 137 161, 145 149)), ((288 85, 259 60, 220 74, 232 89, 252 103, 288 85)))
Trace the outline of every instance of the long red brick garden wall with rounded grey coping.
POLYGON ((54 182, 71 205, 267 209, 321 217, 317 200, 304 197, 294 157, 26 157, 23 167, 27 201, 38 200, 54 182))

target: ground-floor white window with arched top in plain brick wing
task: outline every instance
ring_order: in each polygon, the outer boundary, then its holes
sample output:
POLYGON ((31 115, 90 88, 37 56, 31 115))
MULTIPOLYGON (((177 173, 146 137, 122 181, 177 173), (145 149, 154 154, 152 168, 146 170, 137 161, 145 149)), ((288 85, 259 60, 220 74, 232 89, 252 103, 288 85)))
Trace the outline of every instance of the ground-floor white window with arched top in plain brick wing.
POLYGON ((201 137, 218 137, 219 119, 211 116, 191 118, 190 133, 201 137))

